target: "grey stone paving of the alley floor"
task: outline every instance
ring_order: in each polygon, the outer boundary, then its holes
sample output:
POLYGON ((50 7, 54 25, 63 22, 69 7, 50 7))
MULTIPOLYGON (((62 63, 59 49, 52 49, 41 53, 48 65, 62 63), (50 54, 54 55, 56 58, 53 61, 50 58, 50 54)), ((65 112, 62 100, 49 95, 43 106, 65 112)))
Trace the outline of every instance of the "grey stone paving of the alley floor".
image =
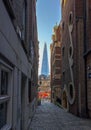
POLYGON ((42 102, 29 130, 91 130, 91 120, 76 117, 52 103, 42 102))

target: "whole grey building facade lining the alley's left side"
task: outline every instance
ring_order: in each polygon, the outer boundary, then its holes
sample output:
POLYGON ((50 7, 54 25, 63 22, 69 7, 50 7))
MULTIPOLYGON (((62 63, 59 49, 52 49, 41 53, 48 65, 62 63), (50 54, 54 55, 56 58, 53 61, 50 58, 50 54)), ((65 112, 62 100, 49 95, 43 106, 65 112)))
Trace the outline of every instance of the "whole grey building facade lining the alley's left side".
POLYGON ((27 130, 37 105, 36 0, 1 0, 0 19, 0 129, 27 130))

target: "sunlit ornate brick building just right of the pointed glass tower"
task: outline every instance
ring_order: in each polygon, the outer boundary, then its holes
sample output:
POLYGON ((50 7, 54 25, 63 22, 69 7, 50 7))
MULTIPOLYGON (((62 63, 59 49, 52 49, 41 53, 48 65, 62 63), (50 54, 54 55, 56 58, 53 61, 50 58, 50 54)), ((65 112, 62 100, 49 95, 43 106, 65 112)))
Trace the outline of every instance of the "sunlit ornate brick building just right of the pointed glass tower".
POLYGON ((61 103, 61 25, 54 26, 51 50, 51 101, 61 103))

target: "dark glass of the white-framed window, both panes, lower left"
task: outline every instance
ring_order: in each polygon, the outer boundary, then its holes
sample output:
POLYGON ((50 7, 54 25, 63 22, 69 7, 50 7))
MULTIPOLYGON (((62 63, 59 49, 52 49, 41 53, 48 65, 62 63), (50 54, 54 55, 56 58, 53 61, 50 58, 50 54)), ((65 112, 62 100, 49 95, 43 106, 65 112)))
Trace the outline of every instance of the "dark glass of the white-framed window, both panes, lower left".
MULTIPOLYGON (((0 72, 1 86, 0 86, 0 98, 3 97, 5 100, 0 104, 0 129, 6 124, 7 121, 7 101, 8 97, 8 72, 1 70, 0 72)), ((2 99, 2 98, 1 98, 2 99)), ((1 101, 1 100, 0 100, 1 101)))

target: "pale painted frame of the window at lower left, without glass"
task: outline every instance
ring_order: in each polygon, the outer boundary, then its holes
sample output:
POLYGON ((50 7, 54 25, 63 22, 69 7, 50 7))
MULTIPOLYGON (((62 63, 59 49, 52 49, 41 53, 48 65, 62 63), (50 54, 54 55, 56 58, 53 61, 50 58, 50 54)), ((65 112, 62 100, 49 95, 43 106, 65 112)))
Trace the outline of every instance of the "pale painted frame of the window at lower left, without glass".
POLYGON ((7 103, 7 117, 6 123, 1 127, 2 130, 10 130, 12 126, 12 85, 13 85, 13 68, 8 65, 6 62, 0 59, 0 88, 1 88, 1 71, 5 71, 8 73, 8 87, 7 94, 1 95, 0 93, 0 104, 7 103), (10 114, 11 113, 11 114, 10 114))

